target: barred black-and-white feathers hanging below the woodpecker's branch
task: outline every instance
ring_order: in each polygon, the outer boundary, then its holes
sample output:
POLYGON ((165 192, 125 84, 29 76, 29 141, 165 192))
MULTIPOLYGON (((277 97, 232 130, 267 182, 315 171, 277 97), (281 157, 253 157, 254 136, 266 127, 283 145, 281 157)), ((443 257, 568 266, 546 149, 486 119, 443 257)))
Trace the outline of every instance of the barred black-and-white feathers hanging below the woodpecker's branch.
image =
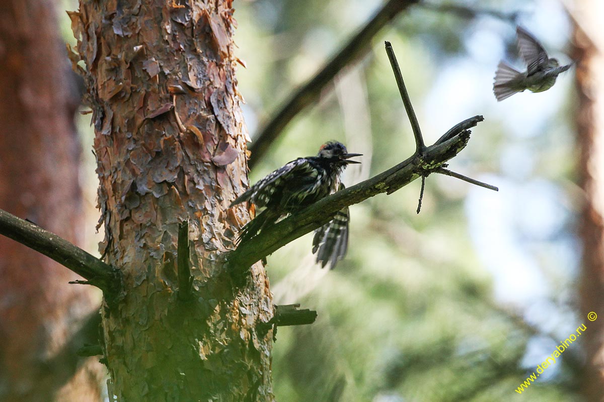
POLYGON ((315 230, 312 240, 312 253, 316 253, 316 262, 323 268, 329 263, 333 269, 348 250, 348 224, 350 215, 348 207, 339 210, 327 224, 315 230))

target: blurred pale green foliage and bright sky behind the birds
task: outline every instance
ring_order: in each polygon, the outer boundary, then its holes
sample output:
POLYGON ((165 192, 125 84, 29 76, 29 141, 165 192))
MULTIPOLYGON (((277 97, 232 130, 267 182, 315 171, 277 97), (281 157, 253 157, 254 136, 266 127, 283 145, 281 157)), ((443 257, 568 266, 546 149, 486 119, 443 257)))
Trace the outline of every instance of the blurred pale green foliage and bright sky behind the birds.
MULTIPOLYGON (((379 0, 239 0, 235 41, 250 132, 379 8, 379 0)), ((551 0, 430 2, 403 12, 321 100, 288 125, 250 172, 254 182, 326 140, 364 154, 345 183, 406 159, 414 143, 384 40, 393 43, 426 143, 474 115, 485 121, 450 168, 500 187, 426 180, 351 208, 348 256, 313 265, 310 235, 268 259, 275 302, 316 309, 306 327, 280 328, 273 376, 278 401, 577 401, 583 356, 574 344, 525 391, 514 390, 584 321, 576 313, 580 249, 573 70, 544 93, 498 104, 492 78, 515 61, 515 23, 462 5, 514 14, 562 62, 570 23, 551 0)), ((67 9, 74 9, 72 2, 67 9)), ((72 41, 69 22, 63 32, 72 41)), ((83 116, 91 215, 97 179, 83 116)), ((93 219, 94 221, 94 219, 93 219)), ((98 241, 95 237, 91 242, 98 241)), ((93 248, 93 247, 91 247, 93 248)))

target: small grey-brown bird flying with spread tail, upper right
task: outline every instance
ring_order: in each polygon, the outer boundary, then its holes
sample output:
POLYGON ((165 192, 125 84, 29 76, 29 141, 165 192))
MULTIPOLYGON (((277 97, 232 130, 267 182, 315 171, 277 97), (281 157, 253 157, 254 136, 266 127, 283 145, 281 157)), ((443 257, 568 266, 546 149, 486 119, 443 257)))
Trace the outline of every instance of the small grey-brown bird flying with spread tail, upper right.
POLYGON ((560 66, 555 58, 549 58, 541 43, 522 27, 516 27, 516 43, 527 64, 527 71, 516 71, 500 61, 493 83, 493 93, 498 102, 525 89, 531 92, 548 90, 556 83, 558 75, 573 65, 560 66))

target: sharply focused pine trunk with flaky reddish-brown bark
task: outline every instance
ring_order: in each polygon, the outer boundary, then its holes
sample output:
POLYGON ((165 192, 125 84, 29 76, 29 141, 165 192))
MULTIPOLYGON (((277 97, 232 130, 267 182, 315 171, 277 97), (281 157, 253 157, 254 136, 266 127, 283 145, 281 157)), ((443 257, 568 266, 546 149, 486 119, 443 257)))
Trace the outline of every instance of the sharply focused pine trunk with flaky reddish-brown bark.
POLYGON ((232 0, 80 1, 74 68, 95 127, 98 201, 123 298, 103 309, 118 401, 270 401, 273 314, 262 265, 236 289, 220 254, 247 219, 232 0), (80 67, 83 64, 85 68, 80 67), (189 218, 190 302, 178 300, 178 224, 189 218))

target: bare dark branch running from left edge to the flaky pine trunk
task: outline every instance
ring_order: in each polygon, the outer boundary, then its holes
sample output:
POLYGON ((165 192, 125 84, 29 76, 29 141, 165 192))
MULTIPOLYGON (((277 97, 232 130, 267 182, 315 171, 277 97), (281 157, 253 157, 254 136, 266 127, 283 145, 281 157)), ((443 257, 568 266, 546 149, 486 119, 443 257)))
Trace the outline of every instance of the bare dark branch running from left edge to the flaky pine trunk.
POLYGON ((82 275, 86 281, 107 295, 117 295, 121 289, 121 273, 62 237, 0 210, 0 234, 10 237, 61 265, 82 275))

